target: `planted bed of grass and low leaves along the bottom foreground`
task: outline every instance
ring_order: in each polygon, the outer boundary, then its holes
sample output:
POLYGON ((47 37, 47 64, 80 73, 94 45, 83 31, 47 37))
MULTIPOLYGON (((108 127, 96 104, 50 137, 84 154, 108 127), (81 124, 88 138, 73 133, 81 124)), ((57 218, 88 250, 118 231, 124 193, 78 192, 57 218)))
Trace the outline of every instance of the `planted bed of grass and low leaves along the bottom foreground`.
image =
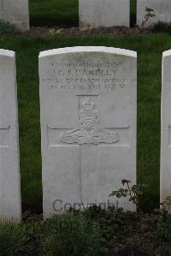
POLYGON ((171 255, 171 215, 163 213, 94 205, 44 221, 0 221, 0 256, 171 255))

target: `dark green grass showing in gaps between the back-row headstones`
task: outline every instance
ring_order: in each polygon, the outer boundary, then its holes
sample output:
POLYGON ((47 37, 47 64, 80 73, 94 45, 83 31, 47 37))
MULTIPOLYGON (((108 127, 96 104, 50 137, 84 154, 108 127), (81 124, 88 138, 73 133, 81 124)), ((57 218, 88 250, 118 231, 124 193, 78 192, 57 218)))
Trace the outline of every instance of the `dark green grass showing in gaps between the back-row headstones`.
MULTIPOLYGON (((79 26, 79 0, 29 0, 31 26, 79 26)), ((131 3, 131 25, 136 23, 136 0, 131 3)))

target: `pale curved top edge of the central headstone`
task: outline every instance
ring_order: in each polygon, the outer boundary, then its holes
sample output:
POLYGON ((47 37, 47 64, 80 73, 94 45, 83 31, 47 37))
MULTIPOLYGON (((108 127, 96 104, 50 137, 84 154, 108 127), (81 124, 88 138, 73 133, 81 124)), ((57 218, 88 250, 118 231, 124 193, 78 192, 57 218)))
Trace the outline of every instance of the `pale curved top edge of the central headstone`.
POLYGON ((111 54, 117 54, 121 56, 137 58, 136 51, 130 51, 130 50, 125 50, 121 48, 113 48, 113 47, 106 47, 106 46, 74 46, 74 47, 67 47, 67 48, 58 48, 58 49, 53 49, 49 51, 41 51, 39 53, 39 58, 54 56, 58 54, 79 53, 79 52, 104 52, 104 53, 111 53, 111 54))

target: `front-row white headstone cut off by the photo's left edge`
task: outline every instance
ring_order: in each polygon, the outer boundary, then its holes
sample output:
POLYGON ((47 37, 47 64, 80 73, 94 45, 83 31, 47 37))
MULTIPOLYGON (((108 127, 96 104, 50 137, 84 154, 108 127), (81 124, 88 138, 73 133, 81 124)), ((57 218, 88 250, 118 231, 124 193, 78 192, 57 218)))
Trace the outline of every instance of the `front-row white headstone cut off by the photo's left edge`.
POLYGON ((15 52, 0 50, 0 219, 20 222, 17 111, 15 52))

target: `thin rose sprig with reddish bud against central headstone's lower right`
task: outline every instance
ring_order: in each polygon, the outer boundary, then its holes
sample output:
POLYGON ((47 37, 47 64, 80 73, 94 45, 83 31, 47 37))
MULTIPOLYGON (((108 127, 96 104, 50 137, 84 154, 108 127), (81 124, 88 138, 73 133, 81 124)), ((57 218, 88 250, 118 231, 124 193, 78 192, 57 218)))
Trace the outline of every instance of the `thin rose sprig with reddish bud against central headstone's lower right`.
POLYGON ((127 188, 120 188, 119 190, 115 190, 112 191, 112 193, 109 194, 110 196, 116 196, 118 199, 120 199, 121 197, 129 197, 129 201, 133 203, 133 205, 137 206, 137 210, 140 211, 139 209, 139 200, 140 200, 140 196, 143 194, 142 190, 144 187, 146 187, 145 184, 138 184, 138 185, 133 185, 132 187, 130 187, 130 183, 131 181, 129 180, 122 180, 121 181, 123 187, 125 187, 125 185, 127 186, 127 188))

